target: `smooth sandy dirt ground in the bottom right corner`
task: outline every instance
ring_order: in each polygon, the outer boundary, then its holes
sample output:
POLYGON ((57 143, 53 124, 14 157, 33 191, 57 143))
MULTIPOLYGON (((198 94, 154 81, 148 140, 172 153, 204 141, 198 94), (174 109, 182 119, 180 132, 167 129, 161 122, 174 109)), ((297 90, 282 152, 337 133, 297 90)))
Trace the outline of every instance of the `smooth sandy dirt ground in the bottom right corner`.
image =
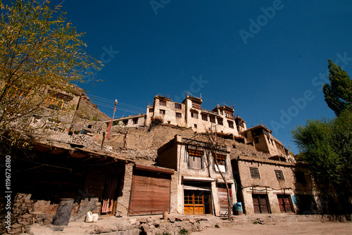
POLYGON ((352 222, 279 222, 270 224, 244 224, 232 227, 211 228, 192 232, 192 235, 232 235, 232 234, 348 234, 352 235, 352 222))

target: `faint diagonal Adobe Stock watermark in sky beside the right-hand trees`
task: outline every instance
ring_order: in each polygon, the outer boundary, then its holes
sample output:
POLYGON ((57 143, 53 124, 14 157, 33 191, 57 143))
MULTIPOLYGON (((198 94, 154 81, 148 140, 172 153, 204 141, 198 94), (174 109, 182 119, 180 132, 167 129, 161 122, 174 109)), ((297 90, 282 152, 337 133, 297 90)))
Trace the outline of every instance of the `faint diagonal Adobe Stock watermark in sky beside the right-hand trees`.
MULTIPOLYGON (((341 69, 344 69, 352 61, 352 57, 347 57, 346 52, 344 52, 343 55, 337 53, 336 56, 338 59, 334 61, 334 63, 337 65, 339 65, 339 63, 343 63, 343 65, 340 65, 341 69)), ((292 98, 291 101, 293 104, 291 104, 291 106, 287 109, 280 110, 281 116, 279 118, 279 122, 276 120, 272 120, 270 122, 272 131, 275 134, 278 134, 279 129, 284 129, 287 125, 289 125, 293 118, 296 118, 298 114, 307 107, 307 103, 315 99, 315 94, 313 91, 322 91, 322 85, 325 83, 329 83, 329 69, 325 72, 320 72, 318 76, 313 77, 312 85, 315 89, 308 89, 303 92, 301 97, 292 98)))

